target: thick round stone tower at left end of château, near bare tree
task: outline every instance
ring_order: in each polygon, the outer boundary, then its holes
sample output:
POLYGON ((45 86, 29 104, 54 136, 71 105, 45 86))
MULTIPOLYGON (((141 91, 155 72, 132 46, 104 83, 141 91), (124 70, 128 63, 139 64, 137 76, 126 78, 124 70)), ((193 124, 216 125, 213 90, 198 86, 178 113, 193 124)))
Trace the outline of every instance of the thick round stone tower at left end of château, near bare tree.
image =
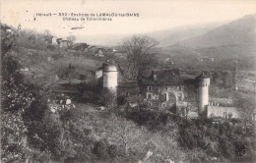
POLYGON ((116 93, 117 88, 117 69, 115 66, 103 63, 102 64, 103 87, 116 93))

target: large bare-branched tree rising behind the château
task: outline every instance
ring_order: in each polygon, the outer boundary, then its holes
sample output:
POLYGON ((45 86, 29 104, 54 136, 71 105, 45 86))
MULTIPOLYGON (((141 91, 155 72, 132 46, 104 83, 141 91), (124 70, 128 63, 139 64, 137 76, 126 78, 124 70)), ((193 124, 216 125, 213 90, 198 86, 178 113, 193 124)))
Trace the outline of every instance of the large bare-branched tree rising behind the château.
POLYGON ((129 80, 138 80, 143 73, 156 66, 157 59, 154 47, 158 41, 146 35, 134 35, 120 45, 120 51, 126 53, 127 61, 117 61, 123 77, 129 80))

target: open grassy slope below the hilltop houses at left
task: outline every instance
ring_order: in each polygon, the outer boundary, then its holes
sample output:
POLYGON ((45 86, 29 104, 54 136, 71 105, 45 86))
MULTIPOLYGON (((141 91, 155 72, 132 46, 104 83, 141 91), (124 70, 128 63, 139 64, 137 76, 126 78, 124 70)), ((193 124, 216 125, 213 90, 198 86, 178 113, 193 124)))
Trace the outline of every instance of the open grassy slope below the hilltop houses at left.
POLYGON ((19 48, 15 53, 19 54, 17 59, 21 61, 21 65, 30 68, 31 72, 40 78, 55 77, 55 75, 61 74, 60 72, 67 70, 69 64, 76 68, 76 78, 79 78, 79 75, 91 75, 103 62, 102 59, 86 56, 80 51, 69 52, 62 49, 19 48), (48 57, 52 57, 53 60, 47 61, 48 57))

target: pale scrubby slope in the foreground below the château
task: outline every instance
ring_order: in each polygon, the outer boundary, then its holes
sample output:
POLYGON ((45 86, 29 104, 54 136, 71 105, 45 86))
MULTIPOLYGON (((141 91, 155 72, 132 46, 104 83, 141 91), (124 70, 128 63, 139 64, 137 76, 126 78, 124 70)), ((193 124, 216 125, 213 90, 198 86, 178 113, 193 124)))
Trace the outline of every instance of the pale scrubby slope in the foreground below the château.
MULTIPOLYGON (((123 140, 127 141, 129 160, 116 157, 112 158, 111 162, 139 162, 146 157, 149 150, 153 152, 152 157, 147 160, 149 163, 163 162, 167 157, 172 157, 175 161, 185 160, 188 154, 178 147, 175 132, 168 132, 167 135, 153 133, 115 115, 114 110, 98 111, 97 106, 93 104, 78 104, 73 112, 76 115, 76 124, 92 130, 91 137, 95 140, 106 139, 121 153, 125 152, 123 140), (123 136, 125 139, 122 139, 123 136)), ((169 122, 169 125, 173 124, 169 122)))

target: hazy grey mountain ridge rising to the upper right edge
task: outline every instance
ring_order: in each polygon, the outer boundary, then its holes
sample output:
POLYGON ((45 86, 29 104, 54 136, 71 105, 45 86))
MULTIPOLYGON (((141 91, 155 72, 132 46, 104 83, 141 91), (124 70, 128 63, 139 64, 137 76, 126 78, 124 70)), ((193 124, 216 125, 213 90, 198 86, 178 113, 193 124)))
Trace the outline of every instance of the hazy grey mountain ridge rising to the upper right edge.
POLYGON ((188 38, 177 43, 183 46, 202 48, 228 44, 255 43, 256 15, 247 15, 241 19, 209 30, 204 34, 188 38))

